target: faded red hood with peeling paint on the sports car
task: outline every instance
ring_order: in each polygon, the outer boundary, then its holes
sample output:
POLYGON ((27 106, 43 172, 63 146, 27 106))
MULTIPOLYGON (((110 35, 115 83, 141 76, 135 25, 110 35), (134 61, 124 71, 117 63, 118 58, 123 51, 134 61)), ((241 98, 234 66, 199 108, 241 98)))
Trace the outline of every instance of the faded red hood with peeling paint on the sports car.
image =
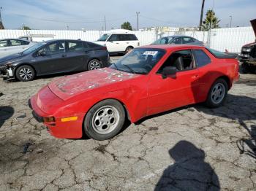
POLYGON ((133 79, 138 76, 140 76, 140 74, 131 74, 124 71, 105 68, 61 77, 50 82, 48 87, 59 98, 67 100, 68 98, 80 93, 95 90, 99 87, 111 84, 113 85, 117 82, 127 81, 128 79, 133 79))

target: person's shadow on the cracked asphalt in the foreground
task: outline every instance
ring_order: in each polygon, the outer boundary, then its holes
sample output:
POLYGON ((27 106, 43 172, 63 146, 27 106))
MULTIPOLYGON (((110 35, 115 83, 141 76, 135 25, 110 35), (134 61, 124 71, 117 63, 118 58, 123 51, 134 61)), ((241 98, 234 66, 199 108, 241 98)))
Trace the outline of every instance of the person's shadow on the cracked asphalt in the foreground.
POLYGON ((169 150, 175 163, 163 172, 155 187, 158 190, 220 190, 219 178, 206 155, 189 141, 179 141, 169 150))

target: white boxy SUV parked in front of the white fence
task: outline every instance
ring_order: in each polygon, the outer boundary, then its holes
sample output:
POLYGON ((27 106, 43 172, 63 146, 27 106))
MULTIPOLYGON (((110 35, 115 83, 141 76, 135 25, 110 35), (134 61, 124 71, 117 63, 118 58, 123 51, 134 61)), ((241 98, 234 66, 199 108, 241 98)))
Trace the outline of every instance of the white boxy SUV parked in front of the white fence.
POLYGON ((95 43, 107 47, 108 52, 127 53, 140 46, 135 34, 104 34, 95 43))

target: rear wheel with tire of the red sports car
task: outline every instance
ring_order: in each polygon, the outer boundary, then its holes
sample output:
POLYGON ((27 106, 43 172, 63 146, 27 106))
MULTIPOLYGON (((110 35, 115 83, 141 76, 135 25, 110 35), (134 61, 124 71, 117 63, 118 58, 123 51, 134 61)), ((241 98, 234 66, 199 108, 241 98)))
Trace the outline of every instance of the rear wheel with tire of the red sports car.
POLYGON ((211 85, 211 89, 208 92, 206 106, 211 108, 222 106, 225 102, 225 99, 227 98, 227 90, 228 90, 228 86, 225 79, 222 79, 222 78, 217 79, 214 82, 214 84, 211 85), (220 89, 223 88, 223 90, 219 90, 217 87, 220 87, 220 89), (219 90, 218 93, 216 93, 216 90, 219 90), (222 93, 219 93, 219 92, 222 92, 222 93), (218 95, 219 95, 219 99, 218 99, 218 95))

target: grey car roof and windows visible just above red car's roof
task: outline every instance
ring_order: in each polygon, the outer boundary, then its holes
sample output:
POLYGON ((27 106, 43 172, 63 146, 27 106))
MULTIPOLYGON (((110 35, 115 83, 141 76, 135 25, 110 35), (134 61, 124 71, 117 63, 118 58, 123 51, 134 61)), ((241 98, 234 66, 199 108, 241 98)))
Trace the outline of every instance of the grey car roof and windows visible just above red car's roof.
POLYGON ((157 39, 152 44, 191 44, 197 46, 204 46, 203 42, 191 37, 191 36, 165 36, 161 39, 157 39))

